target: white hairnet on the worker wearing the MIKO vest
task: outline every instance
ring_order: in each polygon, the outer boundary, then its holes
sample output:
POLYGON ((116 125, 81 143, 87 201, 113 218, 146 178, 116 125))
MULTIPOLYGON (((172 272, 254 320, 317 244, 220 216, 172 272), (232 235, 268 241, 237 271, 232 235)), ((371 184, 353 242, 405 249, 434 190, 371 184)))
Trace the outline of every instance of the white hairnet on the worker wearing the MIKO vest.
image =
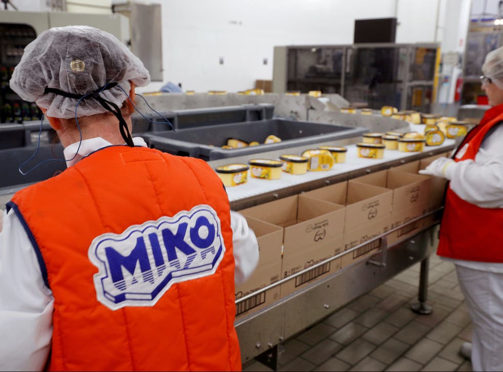
MULTIPOLYGON (((42 32, 26 48, 14 69, 10 87, 21 98, 47 109, 46 115, 75 117, 78 99, 44 93, 46 87, 83 95, 117 82, 124 91, 150 82, 149 71, 140 59, 115 36, 88 26, 55 27, 42 32)), ((103 90, 100 96, 118 107, 127 99, 119 87, 103 90)), ((88 96, 80 101, 77 116, 107 112, 88 96)))

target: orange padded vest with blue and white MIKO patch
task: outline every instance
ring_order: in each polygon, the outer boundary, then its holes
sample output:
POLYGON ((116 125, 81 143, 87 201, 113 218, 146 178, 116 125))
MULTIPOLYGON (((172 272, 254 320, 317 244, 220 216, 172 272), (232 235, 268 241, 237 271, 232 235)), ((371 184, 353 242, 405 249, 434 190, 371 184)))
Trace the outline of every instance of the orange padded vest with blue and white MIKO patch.
POLYGON ((200 159, 111 146, 9 203, 54 295, 51 370, 240 370, 229 202, 200 159))

